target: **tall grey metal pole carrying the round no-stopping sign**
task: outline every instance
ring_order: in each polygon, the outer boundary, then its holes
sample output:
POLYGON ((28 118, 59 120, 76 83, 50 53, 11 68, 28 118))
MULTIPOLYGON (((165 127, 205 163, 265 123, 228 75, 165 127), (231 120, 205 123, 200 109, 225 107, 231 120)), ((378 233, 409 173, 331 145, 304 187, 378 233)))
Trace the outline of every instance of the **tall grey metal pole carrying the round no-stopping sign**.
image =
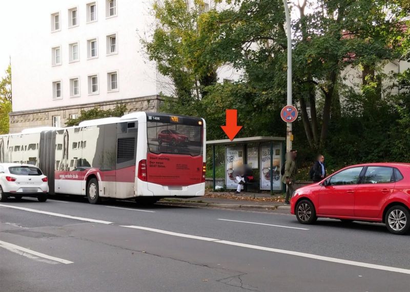
MULTIPOLYGON (((287 105, 292 105, 292 29, 291 15, 289 13, 288 2, 283 0, 286 16, 286 28, 288 31, 288 100, 287 105)), ((286 152, 292 149, 292 123, 286 123, 286 152)))

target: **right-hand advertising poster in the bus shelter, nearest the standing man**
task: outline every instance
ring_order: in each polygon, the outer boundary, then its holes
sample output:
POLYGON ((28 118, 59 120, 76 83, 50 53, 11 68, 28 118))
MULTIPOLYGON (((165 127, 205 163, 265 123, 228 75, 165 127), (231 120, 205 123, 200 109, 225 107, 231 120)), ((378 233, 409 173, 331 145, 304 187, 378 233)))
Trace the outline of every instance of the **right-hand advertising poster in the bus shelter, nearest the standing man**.
MULTIPOLYGON (((273 190, 282 189, 280 168, 282 162, 282 149, 280 143, 273 144, 273 190)), ((271 145, 264 144, 260 146, 260 189, 271 189, 271 145)))

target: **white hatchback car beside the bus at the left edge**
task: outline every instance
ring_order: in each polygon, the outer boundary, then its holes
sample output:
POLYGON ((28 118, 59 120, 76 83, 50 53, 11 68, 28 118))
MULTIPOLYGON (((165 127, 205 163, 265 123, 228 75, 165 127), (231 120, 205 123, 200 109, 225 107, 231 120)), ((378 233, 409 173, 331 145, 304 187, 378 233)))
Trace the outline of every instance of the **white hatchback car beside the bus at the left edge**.
POLYGON ((0 201, 4 202, 8 197, 37 197, 40 202, 44 202, 48 192, 48 178, 38 167, 0 163, 0 201))

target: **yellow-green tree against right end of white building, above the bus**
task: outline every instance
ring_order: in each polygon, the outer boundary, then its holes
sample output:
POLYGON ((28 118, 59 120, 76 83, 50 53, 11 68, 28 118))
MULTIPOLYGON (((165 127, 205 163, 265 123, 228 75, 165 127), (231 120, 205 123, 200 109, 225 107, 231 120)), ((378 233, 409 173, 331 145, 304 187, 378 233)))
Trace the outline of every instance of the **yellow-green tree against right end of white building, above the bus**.
POLYGON ((202 0, 158 1, 153 10, 157 26, 152 39, 142 40, 142 44, 158 71, 172 80, 177 102, 190 104, 205 96, 206 87, 216 82, 219 64, 203 54, 213 33, 203 23, 216 12, 203 13, 202 0))

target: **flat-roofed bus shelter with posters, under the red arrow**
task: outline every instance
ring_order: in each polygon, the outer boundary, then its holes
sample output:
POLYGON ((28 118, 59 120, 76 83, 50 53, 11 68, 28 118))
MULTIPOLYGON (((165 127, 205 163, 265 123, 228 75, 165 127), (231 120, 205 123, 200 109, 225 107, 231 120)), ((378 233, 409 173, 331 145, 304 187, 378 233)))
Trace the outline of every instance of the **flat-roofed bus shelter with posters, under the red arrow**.
POLYGON ((235 169, 246 164, 253 169, 254 180, 258 190, 283 191, 280 169, 285 159, 285 138, 282 137, 249 137, 207 141, 212 146, 212 177, 215 191, 215 146, 224 146, 224 184, 227 189, 236 189, 235 169))

